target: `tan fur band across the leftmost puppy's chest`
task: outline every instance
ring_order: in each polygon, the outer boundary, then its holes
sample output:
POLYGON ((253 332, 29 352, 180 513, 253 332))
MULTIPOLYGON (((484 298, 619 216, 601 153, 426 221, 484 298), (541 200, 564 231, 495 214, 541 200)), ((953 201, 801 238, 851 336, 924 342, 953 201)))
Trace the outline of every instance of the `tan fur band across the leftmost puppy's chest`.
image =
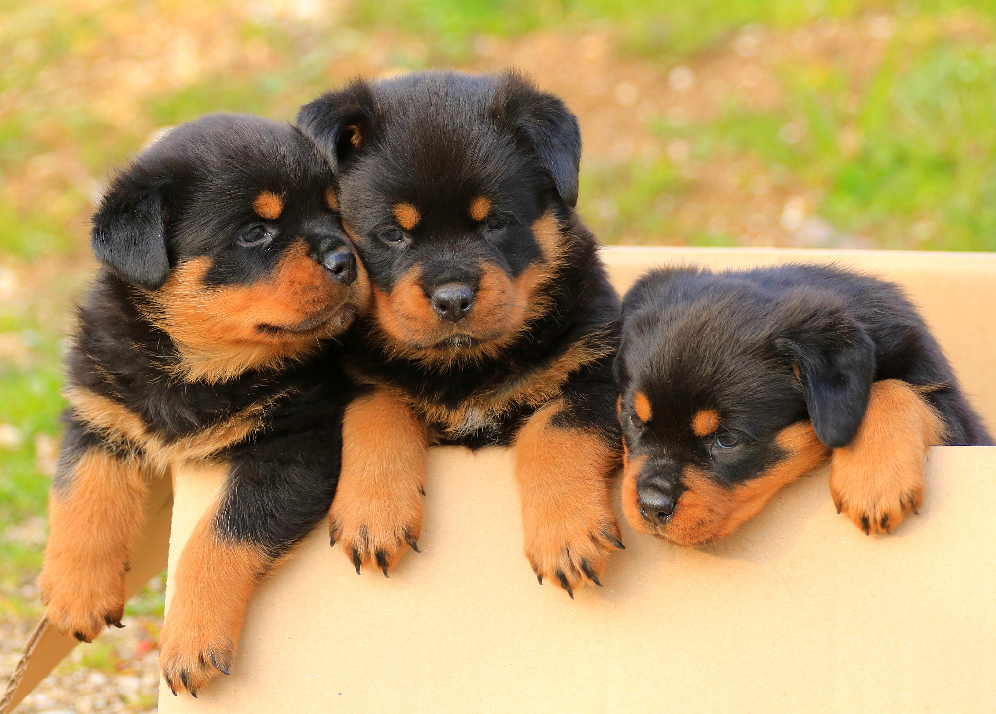
POLYGON ((96 427, 111 443, 127 447, 136 444, 156 466, 169 466, 178 460, 209 458, 226 446, 241 441, 259 429, 266 414, 288 392, 256 402, 226 419, 189 436, 165 441, 147 430, 142 418, 106 396, 83 387, 68 387, 64 394, 79 416, 96 427))

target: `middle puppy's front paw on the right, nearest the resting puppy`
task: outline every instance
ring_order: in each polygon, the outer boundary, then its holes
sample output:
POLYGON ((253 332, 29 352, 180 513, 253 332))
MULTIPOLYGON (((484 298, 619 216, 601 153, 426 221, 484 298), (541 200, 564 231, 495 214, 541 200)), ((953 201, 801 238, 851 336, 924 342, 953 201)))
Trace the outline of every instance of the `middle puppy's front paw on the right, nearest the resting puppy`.
POLYGON ((526 558, 540 585, 556 583, 574 599, 576 588, 599 581, 609 555, 624 548, 616 516, 608 506, 592 504, 584 511, 544 510, 523 504, 526 558))

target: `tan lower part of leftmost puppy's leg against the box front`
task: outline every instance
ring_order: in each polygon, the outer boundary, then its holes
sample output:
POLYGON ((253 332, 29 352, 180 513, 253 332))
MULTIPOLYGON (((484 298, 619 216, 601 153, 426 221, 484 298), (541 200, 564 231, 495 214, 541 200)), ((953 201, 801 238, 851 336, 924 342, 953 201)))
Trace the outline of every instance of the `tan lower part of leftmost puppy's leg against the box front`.
POLYGON ((231 667, 246 603, 273 563, 257 545, 221 540, 214 517, 212 508, 180 554, 159 634, 159 665, 177 692, 196 691, 231 667))

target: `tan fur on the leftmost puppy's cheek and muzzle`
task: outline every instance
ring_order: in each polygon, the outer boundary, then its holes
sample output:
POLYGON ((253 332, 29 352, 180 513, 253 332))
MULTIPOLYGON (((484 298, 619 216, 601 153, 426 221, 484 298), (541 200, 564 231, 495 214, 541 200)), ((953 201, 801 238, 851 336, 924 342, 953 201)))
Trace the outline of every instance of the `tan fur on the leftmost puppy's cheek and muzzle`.
POLYGON ((147 293, 153 307, 146 317, 169 333, 180 353, 173 373, 188 381, 226 381, 307 357, 319 340, 349 327, 368 300, 365 270, 349 288, 330 280, 303 240, 285 251, 271 276, 250 285, 206 285, 210 267, 206 257, 185 261, 147 293))

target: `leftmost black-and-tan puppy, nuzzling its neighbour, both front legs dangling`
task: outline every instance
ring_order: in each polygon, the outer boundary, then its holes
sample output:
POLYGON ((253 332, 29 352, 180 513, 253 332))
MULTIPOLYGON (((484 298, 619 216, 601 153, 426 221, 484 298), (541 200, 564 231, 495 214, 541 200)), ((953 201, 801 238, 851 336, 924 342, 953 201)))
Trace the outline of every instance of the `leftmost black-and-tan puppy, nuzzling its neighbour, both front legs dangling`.
POLYGON ((256 582, 332 503, 349 390, 323 341, 369 292, 333 185, 293 127, 219 115, 142 152, 94 218, 40 585, 60 631, 120 626, 148 479, 227 465, 160 637, 174 693, 227 673, 256 582))

